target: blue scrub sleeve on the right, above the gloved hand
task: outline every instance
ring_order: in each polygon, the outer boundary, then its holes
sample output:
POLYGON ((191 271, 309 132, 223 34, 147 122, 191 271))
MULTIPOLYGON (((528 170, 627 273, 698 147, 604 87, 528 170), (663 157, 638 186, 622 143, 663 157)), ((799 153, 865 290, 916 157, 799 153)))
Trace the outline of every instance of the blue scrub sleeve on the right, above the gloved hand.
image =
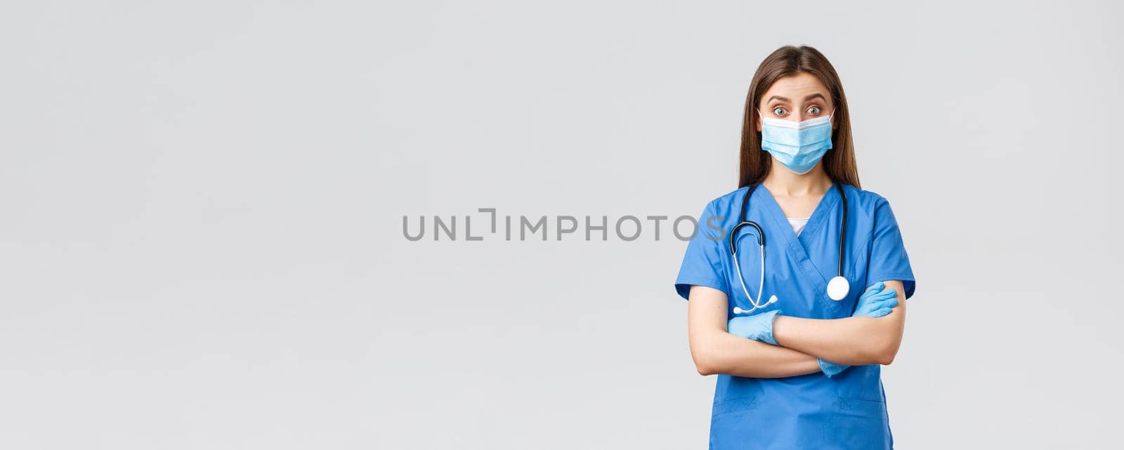
POLYGON ((906 288, 908 300, 913 296, 917 282, 914 279, 913 267, 909 266, 909 255, 906 254, 898 221, 886 199, 880 199, 874 206, 874 231, 870 240, 867 284, 899 279, 906 288))

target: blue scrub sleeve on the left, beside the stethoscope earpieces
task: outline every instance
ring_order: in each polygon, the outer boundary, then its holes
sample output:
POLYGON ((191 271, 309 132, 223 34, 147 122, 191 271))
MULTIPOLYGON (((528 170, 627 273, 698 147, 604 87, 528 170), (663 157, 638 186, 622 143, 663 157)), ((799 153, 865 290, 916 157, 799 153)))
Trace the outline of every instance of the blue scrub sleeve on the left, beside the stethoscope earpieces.
POLYGON ((716 214, 714 202, 703 209, 697 232, 687 242, 687 254, 683 255, 683 264, 676 278, 676 292, 683 300, 687 300, 691 285, 716 288, 726 293, 726 299, 729 299, 725 269, 729 249, 723 247, 728 246, 724 239, 726 230, 722 229, 724 222, 725 218, 716 214))

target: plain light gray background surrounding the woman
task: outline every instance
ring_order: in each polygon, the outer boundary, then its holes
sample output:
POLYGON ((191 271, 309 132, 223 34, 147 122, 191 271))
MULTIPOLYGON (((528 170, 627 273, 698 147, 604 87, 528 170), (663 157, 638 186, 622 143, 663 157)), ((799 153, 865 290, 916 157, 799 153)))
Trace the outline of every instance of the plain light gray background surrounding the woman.
POLYGON ((1057 3, 6 3, 0 447, 704 448, 686 242, 401 218, 696 215, 808 44, 917 276, 898 447, 1107 448, 1122 11, 1057 3))

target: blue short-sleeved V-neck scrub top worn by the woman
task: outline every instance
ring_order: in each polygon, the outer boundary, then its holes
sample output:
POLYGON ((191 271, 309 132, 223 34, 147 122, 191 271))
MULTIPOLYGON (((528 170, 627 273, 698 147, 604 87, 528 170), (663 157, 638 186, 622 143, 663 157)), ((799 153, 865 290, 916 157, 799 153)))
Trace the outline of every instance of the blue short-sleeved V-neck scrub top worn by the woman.
MULTIPOLYGON (((843 202, 833 186, 821 199, 797 236, 780 205, 764 185, 750 198, 749 220, 765 235, 764 309, 808 319, 851 316, 867 286, 898 279, 905 296, 916 282, 897 220, 881 195, 843 184, 847 198, 847 226, 843 276, 851 284, 847 296, 833 301, 827 282, 836 275, 843 202)), ((688 242, 676 292, 687 299, 691 285, 726 294, 727 318, 734 306, 750 309, 725 232, 742 219, 742 200, 749 187, 719 196, 703 210, 698 232, 688 242)), ((755 230, 738 230, 738 265, 750 295, 758 299, 761 255, 755 230)), ((761 310, 758 310, 761 311, 761 310)), ((710 416, 710 449, 892 449, 886 395, 879 365, 852 366, 828 378, 823 373, 785 378, 719 375, 710 416)))

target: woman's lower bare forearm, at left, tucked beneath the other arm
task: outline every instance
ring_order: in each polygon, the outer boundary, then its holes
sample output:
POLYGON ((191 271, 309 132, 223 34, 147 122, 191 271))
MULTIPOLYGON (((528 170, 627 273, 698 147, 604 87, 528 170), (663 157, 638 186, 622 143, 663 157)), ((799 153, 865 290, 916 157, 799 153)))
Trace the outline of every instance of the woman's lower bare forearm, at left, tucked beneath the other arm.
POLYGON ((816 357, 765 342, 713 330, 692 342, 691 357, 703 375, 726 374, 780 378, 819 371, 816 357))

